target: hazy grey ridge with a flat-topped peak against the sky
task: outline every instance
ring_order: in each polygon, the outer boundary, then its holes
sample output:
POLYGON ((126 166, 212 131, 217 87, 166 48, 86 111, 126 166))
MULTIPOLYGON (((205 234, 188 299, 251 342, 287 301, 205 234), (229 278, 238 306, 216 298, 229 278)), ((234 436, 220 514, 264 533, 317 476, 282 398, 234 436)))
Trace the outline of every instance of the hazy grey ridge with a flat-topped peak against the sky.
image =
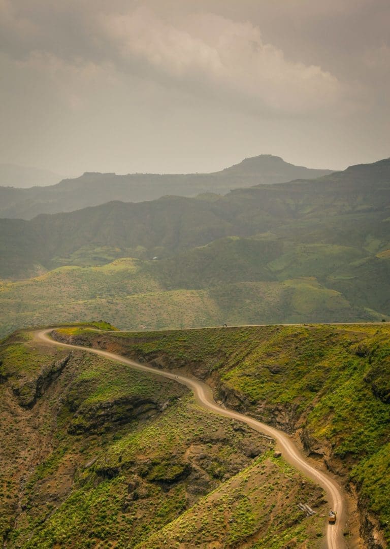
POLYGON ((315 178, 329 173, 331 170, 294 166, 278 156, 265 154, 215 173, 115 175, 86 172, 81 177, 65 179, 49 187, 0 187, 0 217, 32 219, 38 214, 73 211, 109 200, 142 202, 171 194, 183 197, 201 193, 226 194, 235 188, 315 178))

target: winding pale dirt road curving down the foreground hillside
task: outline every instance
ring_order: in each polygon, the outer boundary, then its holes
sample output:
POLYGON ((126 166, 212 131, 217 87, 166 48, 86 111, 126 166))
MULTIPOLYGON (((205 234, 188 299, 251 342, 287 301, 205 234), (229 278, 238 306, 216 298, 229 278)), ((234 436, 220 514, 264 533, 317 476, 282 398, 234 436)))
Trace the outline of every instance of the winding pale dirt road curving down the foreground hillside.
POLYGON ((300 452, 293 439, 290 436, 286 435, 286 433, 283 433, 282 431, 275 429, 274 427, 270 427, 265 423, 261 423, 249 416, 244 416, 244 414, 235 412, 233 410, 227 410, 227 408, 219 406, 214 400, 213 392, 211 391, 209 385, 206 385, 198 379, 191 379, 186 376, 176 375, 171 372, 165 372, 163 370, 152 368, 150 366, 144 366, 142 364, 138 364, 137 362, 129 360, 129 358, 125 358, 124 356, 116 355, 113 352, 102 351, 99 349, 91 349, 79 345, 59 343, 59 341, 55 341, 48 336, 48 333, 51 332, 53 329, 54 328, 49 328, 34 332, 36 339, 44 341, 44 343, 50 345, 69 347, 71 349, 79 349, 82 351, 92 352, 95 355, 104 356, 105 358, 109 358, 110 360, 113 360, 115 362, 121 362, 122 364, 129 365, 137 370, 158 374, 158 376, 173 379, 177 383, 186 385, 189 389, 191 389, 194 396, 196 397, 198 404, 200 404, 204 408, 212 410, 213 412, 218 413, 221 416, 226 416, 237 419, 238 421, 242 421, 249 425, 249 427, 254 429, 255 431, 271 436, 273 439, 276 440, 277 449, 282 452, 283 458, 293 467, 296 467, 300 472, 309 477, 311 480, 314 480, 316 484, 319 484, 326 492, 330 509, 337 512, 336 524, 327 525, 326 528, 327 548, 342 549, 346 547, 346 543, 343 537, 343 530, 346 523, 347 513, 343 490, 330 476, 311 466, 311 464, 305 459, 303 453, 300 452))

